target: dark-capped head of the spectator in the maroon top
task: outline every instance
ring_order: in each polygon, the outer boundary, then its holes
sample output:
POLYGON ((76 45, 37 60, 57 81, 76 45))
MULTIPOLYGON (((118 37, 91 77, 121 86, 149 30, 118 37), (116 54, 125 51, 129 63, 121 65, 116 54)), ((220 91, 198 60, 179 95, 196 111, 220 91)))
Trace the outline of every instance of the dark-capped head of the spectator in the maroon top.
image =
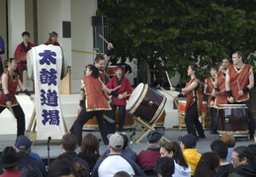
POLYGON ((163 144, 162 137, 164 136, 164 132, 160 131, 151 131, 147 135, 147 142, 150 148, 160 148, 163 144))

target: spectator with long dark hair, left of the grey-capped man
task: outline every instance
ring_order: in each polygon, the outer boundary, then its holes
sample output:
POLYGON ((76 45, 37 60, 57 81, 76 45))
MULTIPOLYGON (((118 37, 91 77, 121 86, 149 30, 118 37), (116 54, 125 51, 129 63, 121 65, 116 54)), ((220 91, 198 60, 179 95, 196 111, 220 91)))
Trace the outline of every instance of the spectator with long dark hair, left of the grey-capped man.
POLYGON ((87 134, 81 144, 81 151, 77 154, 78 157, 84 159, 89 164, 90 171, 100 157, 99 140, 93 134, 87 134))

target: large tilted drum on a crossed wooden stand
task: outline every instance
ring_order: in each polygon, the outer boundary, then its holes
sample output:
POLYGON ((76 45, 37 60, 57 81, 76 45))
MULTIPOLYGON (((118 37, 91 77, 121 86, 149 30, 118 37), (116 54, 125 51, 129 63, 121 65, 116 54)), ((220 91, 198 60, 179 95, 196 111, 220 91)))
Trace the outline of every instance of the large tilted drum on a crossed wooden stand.
POLYGON ((127 110, 147 123, 155 123, 164 111, 166 97, 140 83, 131 93, 127 110))

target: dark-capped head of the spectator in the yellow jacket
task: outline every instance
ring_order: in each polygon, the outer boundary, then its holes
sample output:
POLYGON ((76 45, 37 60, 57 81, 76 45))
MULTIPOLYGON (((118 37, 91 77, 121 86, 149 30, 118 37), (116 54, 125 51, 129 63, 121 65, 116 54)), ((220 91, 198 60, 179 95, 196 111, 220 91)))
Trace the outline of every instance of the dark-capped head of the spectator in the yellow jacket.
POLYGON ((187 134, 185 136, 179 137, 178 141, 182 149, 184 148, 196 148, 197 146, 197 137, 192 134, 187 134))

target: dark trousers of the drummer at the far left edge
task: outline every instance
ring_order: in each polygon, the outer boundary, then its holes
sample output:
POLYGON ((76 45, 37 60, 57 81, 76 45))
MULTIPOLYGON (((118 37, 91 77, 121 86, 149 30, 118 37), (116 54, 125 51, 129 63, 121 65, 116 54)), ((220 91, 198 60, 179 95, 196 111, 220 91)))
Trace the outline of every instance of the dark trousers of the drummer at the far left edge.
MULTIPOLYGON (((5 109, 6 107, 0 106, 0 113, 5 109)), ((17 137, 24 135, 25 131, 25 114, 23 112, 23 109, 20 105, 13 106, 13 111, 15 114, 15 118, 17 119, 17 137)))

